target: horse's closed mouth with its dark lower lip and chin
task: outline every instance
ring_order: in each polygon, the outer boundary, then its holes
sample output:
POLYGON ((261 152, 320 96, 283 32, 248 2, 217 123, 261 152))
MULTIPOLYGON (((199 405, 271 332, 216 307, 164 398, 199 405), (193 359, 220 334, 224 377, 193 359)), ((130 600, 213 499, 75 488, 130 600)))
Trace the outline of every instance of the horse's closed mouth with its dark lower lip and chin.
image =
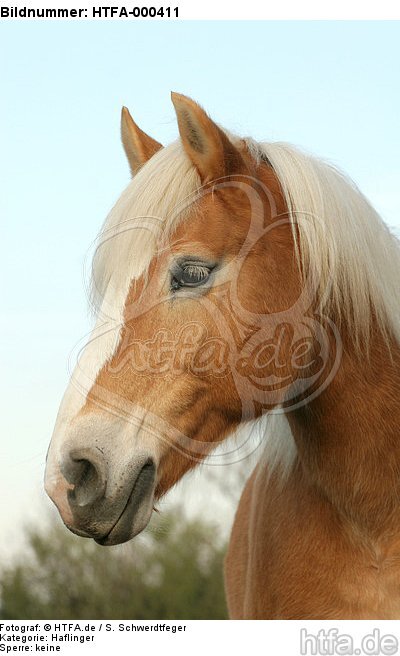
POLYGON ((138 535, 149 523, 153 510, 156 469, 149 461, 142 468, 128 500, 112 528, 100 538, 102 546, 122 544, 138 535))

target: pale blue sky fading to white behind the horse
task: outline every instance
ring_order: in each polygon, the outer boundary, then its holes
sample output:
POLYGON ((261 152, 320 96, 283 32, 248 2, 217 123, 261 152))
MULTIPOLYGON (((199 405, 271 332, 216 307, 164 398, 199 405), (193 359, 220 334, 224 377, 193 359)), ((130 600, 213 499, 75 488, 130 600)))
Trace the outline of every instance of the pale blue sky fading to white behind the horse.
POLYGON ((2 22, 0 61, 1 555, 50 507, 46 450, 91 325, 84 262, 129 181, 121 106, 162 143, 172 90, 238 134, 302 146, 400 234, 400 24, 2 22))

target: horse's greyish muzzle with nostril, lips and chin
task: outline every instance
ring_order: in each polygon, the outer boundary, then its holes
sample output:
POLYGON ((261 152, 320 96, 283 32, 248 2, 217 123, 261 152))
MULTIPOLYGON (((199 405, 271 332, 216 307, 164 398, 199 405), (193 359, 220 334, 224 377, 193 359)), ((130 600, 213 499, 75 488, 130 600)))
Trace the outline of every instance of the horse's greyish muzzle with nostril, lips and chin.
POLYGON ((120 544, 140 533, 151 516, 156 465, 141 454, 118 474, 98 447, 64 453, 56 484, 46 489, 66 526, 102 545, 120 544))

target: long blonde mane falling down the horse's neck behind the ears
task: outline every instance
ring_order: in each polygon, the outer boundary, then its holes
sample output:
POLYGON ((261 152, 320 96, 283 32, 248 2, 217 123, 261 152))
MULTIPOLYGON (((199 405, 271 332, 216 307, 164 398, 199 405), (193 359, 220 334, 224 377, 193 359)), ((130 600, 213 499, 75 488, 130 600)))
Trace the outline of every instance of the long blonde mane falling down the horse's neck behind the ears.
POLYGON ((400 245, 366 197, 340 170, 289 144, 247 143, 280 181, 321 311, 344 319, 361 346, 372 315, 400 341, 400 245))

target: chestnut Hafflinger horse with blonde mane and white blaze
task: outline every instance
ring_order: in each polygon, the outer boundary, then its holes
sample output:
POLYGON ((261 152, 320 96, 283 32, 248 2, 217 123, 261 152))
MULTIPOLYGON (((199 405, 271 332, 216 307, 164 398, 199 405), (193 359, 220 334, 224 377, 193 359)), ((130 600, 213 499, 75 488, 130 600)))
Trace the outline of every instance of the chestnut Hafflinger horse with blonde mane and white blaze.
POLYGON ((256 435, 230 618, 398 619, 399 242, 332 164, 172 102, 166 147, 122 110, 132 179, 96 242, 46 491, 71 531, 119 544, 256 435))

